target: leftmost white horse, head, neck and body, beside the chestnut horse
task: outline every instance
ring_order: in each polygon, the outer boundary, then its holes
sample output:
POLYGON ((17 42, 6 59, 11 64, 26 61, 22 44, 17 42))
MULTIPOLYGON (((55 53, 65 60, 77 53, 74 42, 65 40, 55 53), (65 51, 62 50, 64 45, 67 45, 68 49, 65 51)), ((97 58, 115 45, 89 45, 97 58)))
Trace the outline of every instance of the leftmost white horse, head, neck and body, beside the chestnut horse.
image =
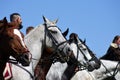
POLYGON ((33 80, 34 69, 42 56, 44 49, 50 49, 52 52, 59 53, 61 56, 67 56, 72 50, 66 39, 63 37, 60 29, 56 26, 57 20, 51 22, 43 17, 44 24, 38 25, 28 35, 25 36, 25 43, 32 54, 32 60, 29 67, 24 69, 12 64, 12 80, 33 80), (27 71, 26 71, 27 70, 27 71))

